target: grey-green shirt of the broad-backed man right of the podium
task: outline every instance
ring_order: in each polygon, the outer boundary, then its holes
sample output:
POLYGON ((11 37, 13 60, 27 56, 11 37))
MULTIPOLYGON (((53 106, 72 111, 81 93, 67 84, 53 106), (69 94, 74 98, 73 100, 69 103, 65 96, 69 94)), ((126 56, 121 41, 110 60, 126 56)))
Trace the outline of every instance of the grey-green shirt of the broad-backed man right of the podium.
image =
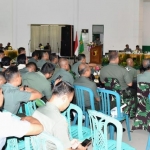
POLYGON ((116 78, 118 79, 121 89, 125 90, 129 83, 132 82, 128 71, 119 66, 118 64, 110 63, 109 65, 103 67, 100 73, 100 80, 104 82, 105 78, 116 78))

